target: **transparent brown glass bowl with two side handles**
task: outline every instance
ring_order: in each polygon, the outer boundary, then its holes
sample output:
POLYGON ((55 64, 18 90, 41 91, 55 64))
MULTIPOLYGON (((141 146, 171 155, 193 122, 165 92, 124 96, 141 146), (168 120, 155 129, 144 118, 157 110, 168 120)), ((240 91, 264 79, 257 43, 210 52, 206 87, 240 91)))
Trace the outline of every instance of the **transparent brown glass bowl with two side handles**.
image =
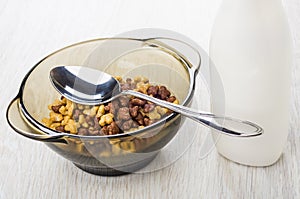
POLYGON ((200 55, 189 44, 171 38, 107 38, 60 49, 38 62, 24 77, 7 110, 10 126, 19 134, 42 141, 79 168, 97 175, 120 175, 143 168, 176 135, 181 116, 172 113, 143 129, 108 136, 60 133, 44 126, 48 104, 60 95, 49 80, 58 65, 82 65, 111 75, 148 77, 166 85, 188 105, 194 93, 200 55))

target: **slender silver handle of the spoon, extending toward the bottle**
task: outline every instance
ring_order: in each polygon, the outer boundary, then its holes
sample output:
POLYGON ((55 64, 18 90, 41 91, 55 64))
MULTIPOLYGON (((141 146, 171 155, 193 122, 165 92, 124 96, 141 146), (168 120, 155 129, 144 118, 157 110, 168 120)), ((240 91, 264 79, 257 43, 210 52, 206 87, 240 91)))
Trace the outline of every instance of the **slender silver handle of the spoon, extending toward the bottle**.
POLYGON ((191 108, 163 101, 154 97, 150 97, 148 95, 133 90, 123 91, 122 94, 132 95, 138 98, 142 98, 144 100, 148 100, 150 102, 168 108, 172 111, 180 113, 186 117, 189 117, 223 134, 239 137, 253 137, 261 135, 263 133, 263 129, 260 126, 249 121, 239 120, 225 116, 217 116, 212 113, 195 111, 191 108))

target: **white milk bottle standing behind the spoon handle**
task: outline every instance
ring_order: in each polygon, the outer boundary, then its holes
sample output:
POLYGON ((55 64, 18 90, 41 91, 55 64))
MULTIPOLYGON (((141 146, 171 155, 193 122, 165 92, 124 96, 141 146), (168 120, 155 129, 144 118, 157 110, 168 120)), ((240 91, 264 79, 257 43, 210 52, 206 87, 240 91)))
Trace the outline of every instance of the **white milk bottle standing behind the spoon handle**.
POLYGON ((253 121, 262 136, 213 132, 220 154, 250 166, 268 166, 283 152, 289 130, 292 41, 281 0, 224 0, 210 41, 220 86, 211 84, 212 112, 253 121))

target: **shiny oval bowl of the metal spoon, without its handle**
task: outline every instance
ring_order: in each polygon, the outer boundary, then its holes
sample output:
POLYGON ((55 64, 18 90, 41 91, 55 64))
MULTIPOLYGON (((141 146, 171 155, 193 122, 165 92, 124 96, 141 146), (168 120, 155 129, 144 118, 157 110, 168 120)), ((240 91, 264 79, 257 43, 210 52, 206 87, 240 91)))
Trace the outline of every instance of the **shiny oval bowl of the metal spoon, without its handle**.
POLYGON ((104 104, 121 92, 115 78, 91 68, 56 67, 50 71, 50 80, 59 93, 79 104, 104 104))

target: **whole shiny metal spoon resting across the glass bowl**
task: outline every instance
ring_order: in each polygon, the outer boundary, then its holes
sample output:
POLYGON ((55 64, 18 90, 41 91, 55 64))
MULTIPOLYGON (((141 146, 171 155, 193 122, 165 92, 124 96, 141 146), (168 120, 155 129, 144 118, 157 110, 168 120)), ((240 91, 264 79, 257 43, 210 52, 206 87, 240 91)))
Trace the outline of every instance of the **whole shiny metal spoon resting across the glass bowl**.
POLYGON ((263 133, 260 126, 249 121, 196 111, 133 90, 122 91, 115 78, 88 67, 55 67, 50 71, 50 80, 60 94, 79 104, 104 104, 121 95, 132 95, 173 110, 227 135, 252 137, 263 133))

